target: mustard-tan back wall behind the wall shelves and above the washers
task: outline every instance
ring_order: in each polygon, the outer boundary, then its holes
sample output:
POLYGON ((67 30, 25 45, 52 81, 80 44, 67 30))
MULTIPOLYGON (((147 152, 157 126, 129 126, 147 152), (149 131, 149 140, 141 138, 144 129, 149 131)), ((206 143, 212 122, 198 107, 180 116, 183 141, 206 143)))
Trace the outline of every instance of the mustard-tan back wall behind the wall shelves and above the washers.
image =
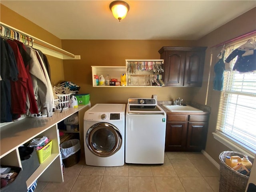
MULTIPOLYGON (((193 46, 194 41, 180 40, 62 40, 62 48, 79 54, 81 60, 65 60, 65 80, 81 87, 80 94, 89 93, 92 105, 96 103, 127 103, 128 98, 173 100, 181 97, 191 100, 194 88, 101 88, 92 87, 91 66, 125 66, 126 59, 160 59, 162 46, 193 46)), ((121 74, 120 74, 121 75, 121 74)))

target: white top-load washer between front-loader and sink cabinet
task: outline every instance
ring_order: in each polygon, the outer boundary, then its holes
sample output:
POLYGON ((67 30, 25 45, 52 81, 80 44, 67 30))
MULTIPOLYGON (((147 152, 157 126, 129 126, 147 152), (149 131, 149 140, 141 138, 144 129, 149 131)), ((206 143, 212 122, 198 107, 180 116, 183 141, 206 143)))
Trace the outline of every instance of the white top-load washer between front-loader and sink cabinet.
POLYGON ((125 162, 163 164, 166 113, 155 99, 130 98, 126 106, 125 162))

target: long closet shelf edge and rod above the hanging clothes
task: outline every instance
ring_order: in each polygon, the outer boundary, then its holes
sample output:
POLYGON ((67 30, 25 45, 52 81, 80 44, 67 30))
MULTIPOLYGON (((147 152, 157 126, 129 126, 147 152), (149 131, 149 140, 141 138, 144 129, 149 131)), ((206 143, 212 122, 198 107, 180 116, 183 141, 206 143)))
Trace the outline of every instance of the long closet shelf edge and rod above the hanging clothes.
MULTIPOLYGON (((65 50, 63 50, 61 48, 58 48, 58 47, 56 47, 56 46, 54 46, 54 45, 52 45, 50 43, 47 43, 47 42, 45 42, 43 40, 40 40, 40 39, 38 39, 38 38, 36 38, 34 36, 31 36, 30 34, 27 34, 27 33, 23 32, 21 30, 18 30, 16 28, 12 27, 12 26, 4 24, 3 22, 0 22, 0 25, 4 26, 6 28, 9 28, 11 30, 14 30, 14 31, 16 31, 18 33, 21 33, 21 34, 23 34, 25 36, 28 36, 28 37, 32 38, 33 39, 33 47, 34 47, 35 44, 38 44, 39 46, 43 46, 45 48, 51 49, 51 50, 56 51, 56 52, 58 52, 60 54, 64 54, 65 56, 70 57, 70 59, 80 59, 80 55, 74 55, 74 54, 72 54, 70 52, 67 52, 67 51, 65 51, 65 50)), ((48 54, 48 53, 46 53, 46 54, 48 54)), ((52 56, 54 56, 54 55, 52 55, 52 56)), ((58 56, 56 56, 56 57, 58 57, 58 56)), ((60 58, 60 57, 58 57, 58 58, 60 58)), ((67 59, 67 58, 63 58, 63 59, 67 59)))

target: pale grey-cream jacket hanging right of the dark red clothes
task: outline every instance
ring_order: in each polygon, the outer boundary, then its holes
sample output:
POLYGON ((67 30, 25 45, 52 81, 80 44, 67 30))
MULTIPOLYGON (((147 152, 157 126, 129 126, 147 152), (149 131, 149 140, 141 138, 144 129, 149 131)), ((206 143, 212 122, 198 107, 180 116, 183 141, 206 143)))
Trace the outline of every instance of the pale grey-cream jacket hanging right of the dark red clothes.
POLYGON ((48 75, 45 75, 47 72, 45 68, 42 68, 44 65, 40 64, 40 62, 42 63, 42 58, 40 58, 39 54, 36 54, 36 51, 30 46, 25 45, 25 48, 32 58, 29 62, 29 72, 32 78, 33 90, 35 99, 37 101, 38 110, 41 111, 42 114, 47 114, 48 117, 51 117, 52 108, 54 108, 54 98, 50 79, 48 75))

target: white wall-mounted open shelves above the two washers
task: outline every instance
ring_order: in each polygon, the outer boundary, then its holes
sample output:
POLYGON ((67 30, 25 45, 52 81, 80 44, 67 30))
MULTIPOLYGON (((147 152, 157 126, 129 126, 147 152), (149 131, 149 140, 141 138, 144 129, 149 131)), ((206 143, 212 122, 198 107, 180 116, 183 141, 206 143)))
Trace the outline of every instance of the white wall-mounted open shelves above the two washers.
MULTIPOLYGON (((91 66, 92 67, 92 86, 93 87, 161 87, 161 86, 150 86, 150 85, 129 85, 128 77, 139 77, 140 79, 145 78, 145 80, 148 80, 149 76, 153 76, 154 73, 153 70, 137 70, 134 74, 127 72, 127 66, 129 62, 164 62, 164 60, 126 60, 126 66, 91 66), (110 75, 110 78, 118 79, 118 81, 121 81, 121 75, 126 74, 126 86, 97 86, 94 84, 94 75, 103 75, 106 77, 106 75, 110 75)), ((145 83, 146 84, 146 83, 145 83)))

